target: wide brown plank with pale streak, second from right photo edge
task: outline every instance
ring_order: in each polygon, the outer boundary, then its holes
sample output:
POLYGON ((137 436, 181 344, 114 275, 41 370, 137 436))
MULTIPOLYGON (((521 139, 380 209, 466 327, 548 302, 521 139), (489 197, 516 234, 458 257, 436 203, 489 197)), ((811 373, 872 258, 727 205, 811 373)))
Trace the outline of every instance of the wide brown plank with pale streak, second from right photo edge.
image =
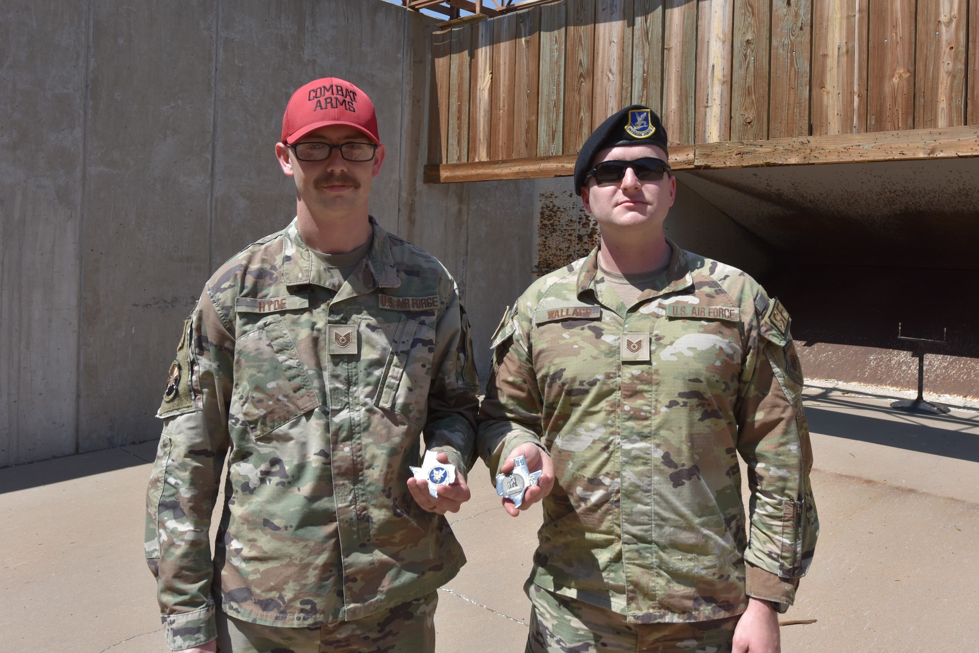
POLYGON ((965 125, 966 0, 918 0, 914 127, 965 125))

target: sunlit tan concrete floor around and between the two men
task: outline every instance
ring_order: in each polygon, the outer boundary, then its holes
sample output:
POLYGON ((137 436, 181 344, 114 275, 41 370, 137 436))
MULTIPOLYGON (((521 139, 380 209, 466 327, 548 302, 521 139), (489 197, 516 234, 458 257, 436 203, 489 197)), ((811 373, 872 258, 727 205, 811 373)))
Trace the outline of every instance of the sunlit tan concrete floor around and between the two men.
MULTIPOLYGON (((911 417, 807 390, 821 535, 785 653, 979 651, 979 414, 911 417)), ((160 653, 142 559, 146 443, 0 470, 0 651, 160 653)), ((453 528, 439 653, 522 651, 539 509, 511 518, 482 463, 453 528), (504 555, 505 554, 505 555, 504 555)))

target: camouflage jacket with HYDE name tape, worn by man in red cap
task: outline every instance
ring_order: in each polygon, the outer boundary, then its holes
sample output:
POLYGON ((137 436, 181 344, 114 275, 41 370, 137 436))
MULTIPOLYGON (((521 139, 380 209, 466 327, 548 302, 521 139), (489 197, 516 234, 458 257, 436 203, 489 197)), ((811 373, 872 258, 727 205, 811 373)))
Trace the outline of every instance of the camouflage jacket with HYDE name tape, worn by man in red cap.
POLYGON ((423 432, 460 470, 475 460, 468 321, 442 264, 371 223, 345 281, 293 221, 214 273, 184 326, 146 520, 172 649, 212 639, 215 606, 267 626, 354 620, 465 564, 406 480, 423 432))

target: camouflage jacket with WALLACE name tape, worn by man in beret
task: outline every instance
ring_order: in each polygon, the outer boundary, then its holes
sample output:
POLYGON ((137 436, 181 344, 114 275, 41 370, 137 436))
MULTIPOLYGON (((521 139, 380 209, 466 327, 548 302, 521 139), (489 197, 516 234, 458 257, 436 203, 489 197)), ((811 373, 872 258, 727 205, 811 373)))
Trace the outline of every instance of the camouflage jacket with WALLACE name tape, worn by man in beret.
POLYGON ((521 443, 550 452, 537 585, 630 623, 705 621, 747 607, 747 560, 748 593, 787 607, 817 532, 788 315, 750 276, 669 244, 657 289, 629 307, 597 249, 528 288, 493 336, 480 453, 493 475, 521 443))

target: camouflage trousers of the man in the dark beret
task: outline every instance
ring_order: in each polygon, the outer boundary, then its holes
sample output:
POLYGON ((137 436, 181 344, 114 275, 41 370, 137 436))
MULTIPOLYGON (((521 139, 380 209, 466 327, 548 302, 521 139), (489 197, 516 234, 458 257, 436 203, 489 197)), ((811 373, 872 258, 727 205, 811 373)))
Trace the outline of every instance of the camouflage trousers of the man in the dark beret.
POLYGON ((527 583, 531 628, 525 653, 729 653, 740 615, 685 624, 627 624, 625 615, 527 583))

